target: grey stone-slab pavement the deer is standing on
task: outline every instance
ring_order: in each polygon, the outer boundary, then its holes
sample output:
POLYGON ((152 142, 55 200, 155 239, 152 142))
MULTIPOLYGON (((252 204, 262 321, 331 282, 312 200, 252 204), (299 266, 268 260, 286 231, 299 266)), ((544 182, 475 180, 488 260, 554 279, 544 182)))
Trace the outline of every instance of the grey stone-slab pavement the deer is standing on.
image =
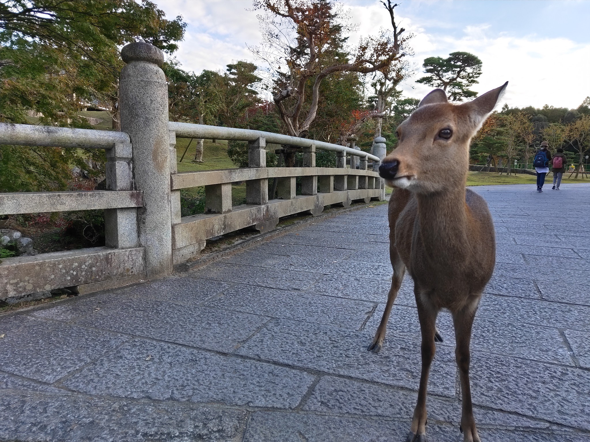
MULTIPOLYGON (((484 442, 590 440, 590 186, 477 187, 497 265, 472 339, 484 442)), ((0 440, 402 441, 419 325, 389 288, 386 206, 346 213, 199 271, 0 316, 0 440), (368 233, 371 232, 371 233, 368 233)), ((431 441, 462 441, 450 316, 431 441)))

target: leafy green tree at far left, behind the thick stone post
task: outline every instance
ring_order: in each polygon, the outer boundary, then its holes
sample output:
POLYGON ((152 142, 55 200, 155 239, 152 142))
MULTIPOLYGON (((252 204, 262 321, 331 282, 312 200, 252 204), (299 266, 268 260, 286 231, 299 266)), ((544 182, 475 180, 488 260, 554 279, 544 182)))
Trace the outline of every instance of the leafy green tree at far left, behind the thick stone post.
MULTIPOLYGON (((119 47, 142 37, 176 50, 185 24, 148 1, 5 0, 0 4, 0 121, 90 127, 78 111, 105 104, 118 128, 119 47)), ((0 146, 1 189, 65 189, 70 167, 99 150, 0 146)))

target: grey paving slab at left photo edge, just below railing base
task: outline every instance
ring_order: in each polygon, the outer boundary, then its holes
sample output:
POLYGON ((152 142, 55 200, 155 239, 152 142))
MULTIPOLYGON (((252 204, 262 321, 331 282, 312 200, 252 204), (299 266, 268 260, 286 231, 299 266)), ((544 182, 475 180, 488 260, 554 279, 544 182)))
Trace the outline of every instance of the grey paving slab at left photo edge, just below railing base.
POLYGON ((11 329, 0 322, 6 336, 0 339, 0 370, 38 381, 54 382, 127 341, 106 331, 90 331, 77 325, 44 321, 25 315, 11 329))

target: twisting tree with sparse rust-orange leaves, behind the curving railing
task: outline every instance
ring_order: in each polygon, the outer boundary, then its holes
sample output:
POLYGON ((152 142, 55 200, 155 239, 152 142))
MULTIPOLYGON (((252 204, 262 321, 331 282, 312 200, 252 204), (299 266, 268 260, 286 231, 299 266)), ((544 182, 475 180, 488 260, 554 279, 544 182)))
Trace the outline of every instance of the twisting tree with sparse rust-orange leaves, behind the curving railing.
POLYGON ((399 42, 386 32, 377 39, 360 39, 350 57, 344 35, 350 28, 330 0, 258 0, 255 6, 266 15, 259 16, 264 46, 254 52, 275 69, 274 103, 291 136, 307 136, 325 78, 383 70, 398 57, 399 42), (306 102, 309 87, 311 100, 306 102))

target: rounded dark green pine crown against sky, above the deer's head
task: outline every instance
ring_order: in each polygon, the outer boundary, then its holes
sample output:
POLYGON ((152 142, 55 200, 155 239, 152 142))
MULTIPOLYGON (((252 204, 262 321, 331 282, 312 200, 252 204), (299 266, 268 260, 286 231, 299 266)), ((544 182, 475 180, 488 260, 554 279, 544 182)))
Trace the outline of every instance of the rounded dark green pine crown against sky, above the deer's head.
POLYGON ((479 83, 481 60, 469 52, 451 52, 448 58, 428 57, 422 65, 427 74, 416 83, 440 87, 451 101, 476 97, 477 92, 468 90, 479 83))

